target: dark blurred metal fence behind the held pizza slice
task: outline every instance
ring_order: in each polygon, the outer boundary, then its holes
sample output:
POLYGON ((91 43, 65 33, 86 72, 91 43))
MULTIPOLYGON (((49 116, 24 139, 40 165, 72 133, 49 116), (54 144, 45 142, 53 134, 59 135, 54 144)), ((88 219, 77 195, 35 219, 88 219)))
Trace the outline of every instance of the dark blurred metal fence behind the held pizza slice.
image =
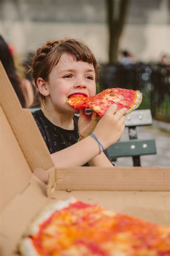
POLYGON ((170 66, 158 63, 101 65, 100 91, 107 88, 140 90, 139 109, 151 109, 152 117, 170 122, 170 66))

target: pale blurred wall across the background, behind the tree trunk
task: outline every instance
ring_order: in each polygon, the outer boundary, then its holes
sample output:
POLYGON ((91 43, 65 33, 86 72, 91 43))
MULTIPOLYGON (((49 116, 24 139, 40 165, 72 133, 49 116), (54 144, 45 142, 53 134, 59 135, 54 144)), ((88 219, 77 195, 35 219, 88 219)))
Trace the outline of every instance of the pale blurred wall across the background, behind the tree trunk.
MULTIPOLYGON (((0 34, 17 53, 48 39, 74 37, 84 40, 98 61, 108 61, 105 0, 1 0, 0 7, 0 34)), ((131 0, 119 48, 141 61, 160 60, 170 50, 168 14, 168 0, 131 0)))

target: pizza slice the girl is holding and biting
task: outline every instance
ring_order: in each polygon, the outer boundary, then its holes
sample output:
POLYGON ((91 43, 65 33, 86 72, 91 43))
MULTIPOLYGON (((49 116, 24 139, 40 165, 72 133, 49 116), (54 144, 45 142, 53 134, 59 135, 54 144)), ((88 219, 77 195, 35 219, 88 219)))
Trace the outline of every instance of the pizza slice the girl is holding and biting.
POLYGON ((117 104, 118 110, 127 108, 126 114, 137 109, 142 102, 142 93, 121 88, 106 89, 95 96, 85 97, 83 95, 73 95, 68 98, 67 103, 75 109, 90 108, 103 116, 105 111, 113 103, 117 104))

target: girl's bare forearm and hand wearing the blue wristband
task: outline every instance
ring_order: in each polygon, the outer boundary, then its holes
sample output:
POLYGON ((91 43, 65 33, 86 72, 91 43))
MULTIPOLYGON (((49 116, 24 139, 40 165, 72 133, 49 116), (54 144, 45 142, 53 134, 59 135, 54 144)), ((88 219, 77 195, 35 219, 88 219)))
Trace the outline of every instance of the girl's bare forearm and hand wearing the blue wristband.
MULTIPOLYGON (((115 143, 124 131, 127 109, 117 110, 117 105, 111 105, 103 118, 99 120, 93 133, 98 138, 104 149, 115 143)), ((98 142, 87 136, 76 144, 51 154, 56 167, 82 166, 89 162, 93 166, 113 166, 104 153, 99 155, 98 142), (94 159, 95 158, 95 159, 94 159)))

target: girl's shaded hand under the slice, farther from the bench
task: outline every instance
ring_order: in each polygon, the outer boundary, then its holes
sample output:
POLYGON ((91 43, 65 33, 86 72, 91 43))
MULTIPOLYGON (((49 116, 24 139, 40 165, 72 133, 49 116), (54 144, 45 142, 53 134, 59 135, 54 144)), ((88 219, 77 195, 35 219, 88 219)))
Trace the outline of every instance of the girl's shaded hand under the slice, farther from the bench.
POLYGON ((94 128, 100 119, 101 116, 99 116, 95 111, 86 114, 85 109, 80 109, 80 116, 78 120, 80 140, 89 136, 89 134, 94 131, 94 128))

